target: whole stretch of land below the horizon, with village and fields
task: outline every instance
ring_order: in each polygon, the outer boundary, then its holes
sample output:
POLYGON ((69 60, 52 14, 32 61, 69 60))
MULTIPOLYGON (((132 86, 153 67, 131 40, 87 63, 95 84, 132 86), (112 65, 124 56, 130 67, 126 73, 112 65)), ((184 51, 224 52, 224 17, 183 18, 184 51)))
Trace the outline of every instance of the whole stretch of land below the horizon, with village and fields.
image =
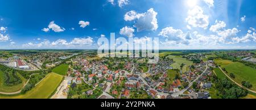
POLYGON ((256 98, 256 50, 160 50, 156 64, 97 50, 0 52, 3 99, 256 98))

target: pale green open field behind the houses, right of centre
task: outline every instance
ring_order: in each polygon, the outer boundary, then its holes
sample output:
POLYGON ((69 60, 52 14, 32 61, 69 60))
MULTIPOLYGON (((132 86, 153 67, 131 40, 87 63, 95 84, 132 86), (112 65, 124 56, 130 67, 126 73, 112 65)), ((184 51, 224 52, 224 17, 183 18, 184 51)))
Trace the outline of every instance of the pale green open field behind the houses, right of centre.
POLYGON ((188 66, 191 66, 193 64, 192 61, 188 61, 187 59, 182 58, 180 56, 168 56, 168 58, 174 59, 175 63, 171 65, 172 67, 174 67, 174 69, 180 69, 181 64, 186 64, 186 67, 182 69, 183 73, 187 71, 188 66))

